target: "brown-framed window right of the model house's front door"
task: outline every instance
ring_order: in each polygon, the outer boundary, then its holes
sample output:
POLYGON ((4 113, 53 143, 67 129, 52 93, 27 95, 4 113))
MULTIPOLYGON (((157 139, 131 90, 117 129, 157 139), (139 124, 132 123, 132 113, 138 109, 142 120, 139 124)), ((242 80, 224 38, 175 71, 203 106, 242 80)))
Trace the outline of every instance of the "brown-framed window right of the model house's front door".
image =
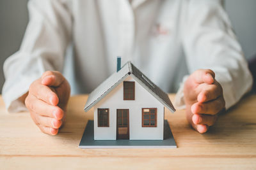
POLYGON ((156 127, 157 108, 142 108, 142 127, 156 127))

